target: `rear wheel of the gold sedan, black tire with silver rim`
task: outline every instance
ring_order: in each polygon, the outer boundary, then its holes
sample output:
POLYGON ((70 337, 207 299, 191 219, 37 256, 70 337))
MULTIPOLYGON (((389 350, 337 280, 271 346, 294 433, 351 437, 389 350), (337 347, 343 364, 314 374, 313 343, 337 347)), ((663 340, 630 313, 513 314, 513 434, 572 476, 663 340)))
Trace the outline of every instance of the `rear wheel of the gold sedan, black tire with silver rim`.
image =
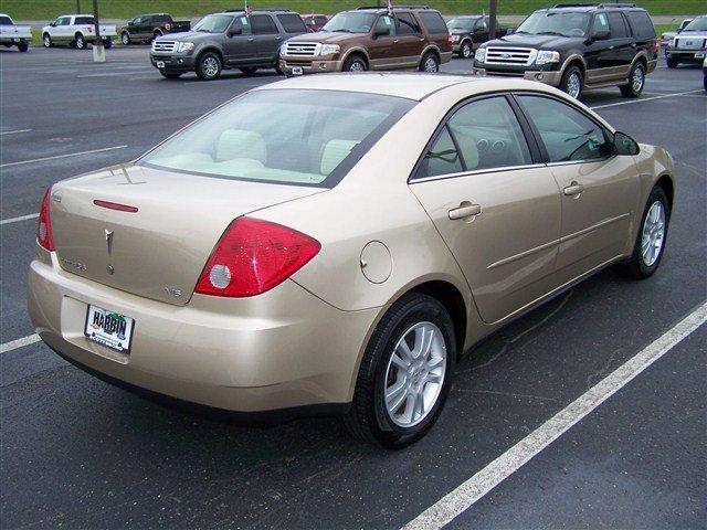
POLYGON ((423 294, 404 295, 369 339, 345 416, 348 430, 358 439, 387 448, 416 442, 442 412, 455 361, 454 326, 444 306, 423 294), (420 330, 423 337, 432 337, 426 348, 421 347, 420 330))

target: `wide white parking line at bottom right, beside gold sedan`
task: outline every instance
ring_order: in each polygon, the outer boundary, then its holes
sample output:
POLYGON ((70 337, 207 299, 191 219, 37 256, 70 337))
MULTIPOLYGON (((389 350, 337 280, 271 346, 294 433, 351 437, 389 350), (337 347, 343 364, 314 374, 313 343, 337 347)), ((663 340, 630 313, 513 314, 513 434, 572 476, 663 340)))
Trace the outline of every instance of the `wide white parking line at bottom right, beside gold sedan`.
POLYGON ((704 303, 472 478, 424 510, 405 524, 403 530, 439 530, 451 522, 671 351, 705 321, 707 321, 707 303, 704 303))

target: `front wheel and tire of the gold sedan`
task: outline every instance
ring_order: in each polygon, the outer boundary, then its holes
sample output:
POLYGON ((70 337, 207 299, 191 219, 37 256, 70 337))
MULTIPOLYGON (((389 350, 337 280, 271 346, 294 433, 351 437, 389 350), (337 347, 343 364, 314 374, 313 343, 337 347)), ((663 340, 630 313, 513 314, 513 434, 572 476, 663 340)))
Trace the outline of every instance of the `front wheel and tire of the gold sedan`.
POLYGON ((623 265, 626 276, 644 279, 655 273, 665 251, 669 220, 671 206, 667 197, 662 188, 655 186, 643 210, 633 254, 623 265))

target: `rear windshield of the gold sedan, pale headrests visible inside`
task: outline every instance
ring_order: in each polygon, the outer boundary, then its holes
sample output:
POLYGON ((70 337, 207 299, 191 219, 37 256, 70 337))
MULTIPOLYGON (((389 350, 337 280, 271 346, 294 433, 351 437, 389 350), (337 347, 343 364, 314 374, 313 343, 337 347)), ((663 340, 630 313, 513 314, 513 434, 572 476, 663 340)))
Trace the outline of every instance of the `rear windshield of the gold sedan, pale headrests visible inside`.
POLYGON ((330 188, 414 104, 379 94, 255 91, 178 132, 137 163, 330 188))

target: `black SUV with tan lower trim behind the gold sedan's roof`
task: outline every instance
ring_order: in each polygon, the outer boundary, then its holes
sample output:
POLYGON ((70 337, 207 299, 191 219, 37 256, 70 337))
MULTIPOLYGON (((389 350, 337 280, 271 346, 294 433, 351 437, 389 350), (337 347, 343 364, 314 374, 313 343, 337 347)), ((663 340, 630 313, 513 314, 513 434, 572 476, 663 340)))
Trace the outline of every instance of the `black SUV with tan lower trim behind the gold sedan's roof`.
POLYGON ((563 3, 482 44, 474 72, 539 81, 576 98, 584 88, 616 85, 624 97, 637 97, 658 49, 651 17, 633 3, 563 3))

